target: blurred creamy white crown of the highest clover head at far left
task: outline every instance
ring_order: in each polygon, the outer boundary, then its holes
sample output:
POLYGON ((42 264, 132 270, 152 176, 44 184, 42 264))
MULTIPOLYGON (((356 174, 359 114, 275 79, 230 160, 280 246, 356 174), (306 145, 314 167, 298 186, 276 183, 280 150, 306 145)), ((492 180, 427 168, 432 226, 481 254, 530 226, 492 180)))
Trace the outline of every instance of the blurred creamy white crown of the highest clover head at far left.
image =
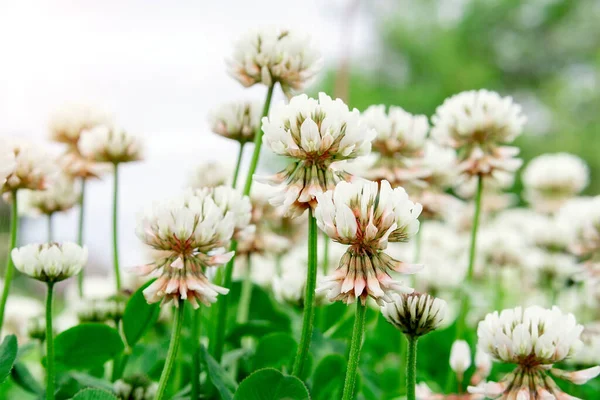
POLYGON ((83 104, 65 105, 50 118, 50 137, 76 146, 83 131, 107 124, 110 118, 99 110, 83 104))

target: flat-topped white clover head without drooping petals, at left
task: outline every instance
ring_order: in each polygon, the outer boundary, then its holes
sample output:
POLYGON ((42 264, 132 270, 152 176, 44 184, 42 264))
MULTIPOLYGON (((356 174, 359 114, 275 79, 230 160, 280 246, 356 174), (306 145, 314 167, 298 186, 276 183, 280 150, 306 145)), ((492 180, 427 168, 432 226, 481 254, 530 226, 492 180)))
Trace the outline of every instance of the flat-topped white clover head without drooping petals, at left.
POLYGON ((22 273, 43 282, 59 282, 81 271, 88 252, 71 242, 44 243, 13 249, 11 257, 22 273))

